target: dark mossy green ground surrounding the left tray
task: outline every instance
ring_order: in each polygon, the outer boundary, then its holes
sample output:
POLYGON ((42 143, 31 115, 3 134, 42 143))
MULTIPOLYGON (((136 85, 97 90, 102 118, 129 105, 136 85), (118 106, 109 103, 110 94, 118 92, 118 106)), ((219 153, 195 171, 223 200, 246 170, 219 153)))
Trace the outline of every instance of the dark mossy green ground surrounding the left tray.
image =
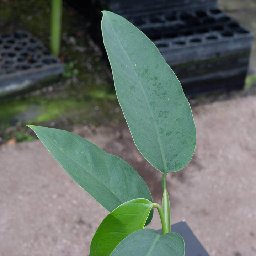
MULTIPOLYGON (((0 34, 27 30, 50 48, 50 4, 50 0, 0 1, 0 34)), ((69 129, 73 124, 124 121, 110 67, 98 47, 102 39, 90 37, 91 25, 63 2, 59 58, 66 66, 64 76, 38 84, 36 91, 0 100, 0 134, 16 125, 26 129, 26 123, 69 129)))

